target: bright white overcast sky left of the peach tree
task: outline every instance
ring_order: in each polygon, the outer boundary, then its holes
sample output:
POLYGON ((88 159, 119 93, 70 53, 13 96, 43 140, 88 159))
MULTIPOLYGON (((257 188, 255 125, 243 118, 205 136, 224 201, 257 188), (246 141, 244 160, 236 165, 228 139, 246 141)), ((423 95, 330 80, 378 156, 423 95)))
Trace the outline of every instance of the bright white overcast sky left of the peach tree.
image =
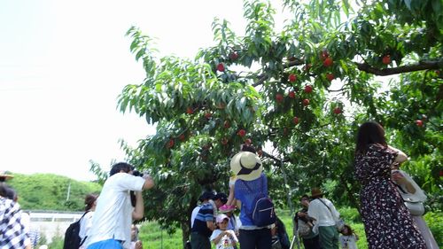
POLYGON ((0 170, 91 180, 89 160, 123 160, 120 138, 154 132, 116 110, 144 79, 124 34, 135 25, 161 54, 193 57, 215 16, 243 32, 240 0, 0 0, 0 170))

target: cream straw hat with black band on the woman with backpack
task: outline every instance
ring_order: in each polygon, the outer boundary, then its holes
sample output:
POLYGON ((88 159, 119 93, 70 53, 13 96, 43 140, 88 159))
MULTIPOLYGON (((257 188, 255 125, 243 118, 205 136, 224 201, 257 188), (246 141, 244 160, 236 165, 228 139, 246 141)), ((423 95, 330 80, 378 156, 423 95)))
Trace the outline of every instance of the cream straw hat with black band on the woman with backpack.
POLYGON ((230 170, 238 179, 253 181, 260 177, 263 167, 261 160, 253 152, 238 152, 230 160, 230 170))

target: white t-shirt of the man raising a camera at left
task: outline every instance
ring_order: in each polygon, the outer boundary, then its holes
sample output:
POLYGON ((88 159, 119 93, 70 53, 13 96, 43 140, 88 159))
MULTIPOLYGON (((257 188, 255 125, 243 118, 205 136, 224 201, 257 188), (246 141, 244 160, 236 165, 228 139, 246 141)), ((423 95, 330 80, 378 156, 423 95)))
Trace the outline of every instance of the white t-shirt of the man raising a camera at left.
POLYGON ((86 245, 106 239, 124 241, 129 248, 131 241, 132 212, 129 191, 142 191, 144 178, 127 173, 109 177, 97 198, 96 212, 86 245))

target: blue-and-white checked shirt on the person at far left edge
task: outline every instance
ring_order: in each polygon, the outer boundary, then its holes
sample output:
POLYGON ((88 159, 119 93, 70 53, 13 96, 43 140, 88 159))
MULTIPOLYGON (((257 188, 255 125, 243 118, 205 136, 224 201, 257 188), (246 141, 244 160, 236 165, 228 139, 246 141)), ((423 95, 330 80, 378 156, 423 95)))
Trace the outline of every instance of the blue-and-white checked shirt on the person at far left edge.
POLYGON ((26 239, 19 204, 0 196, 0 248, 25 248, 26 239))

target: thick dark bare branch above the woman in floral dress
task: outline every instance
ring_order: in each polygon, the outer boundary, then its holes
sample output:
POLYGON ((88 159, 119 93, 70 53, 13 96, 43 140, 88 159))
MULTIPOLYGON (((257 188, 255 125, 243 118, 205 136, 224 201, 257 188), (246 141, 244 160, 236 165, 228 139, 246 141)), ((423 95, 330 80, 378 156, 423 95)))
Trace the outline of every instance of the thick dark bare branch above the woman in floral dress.
POLYGON ((355 62, 355 65, 357 65, 358 69, 363 72, 379 76, 402 74, 402 73, 409 73, 409 72, 416 72, 416 71, 430 70, 430 69, 439 69, 439 61, 420 61, 418 64, 384 68, 384 69, 370 66, 367 63, 355 62))

